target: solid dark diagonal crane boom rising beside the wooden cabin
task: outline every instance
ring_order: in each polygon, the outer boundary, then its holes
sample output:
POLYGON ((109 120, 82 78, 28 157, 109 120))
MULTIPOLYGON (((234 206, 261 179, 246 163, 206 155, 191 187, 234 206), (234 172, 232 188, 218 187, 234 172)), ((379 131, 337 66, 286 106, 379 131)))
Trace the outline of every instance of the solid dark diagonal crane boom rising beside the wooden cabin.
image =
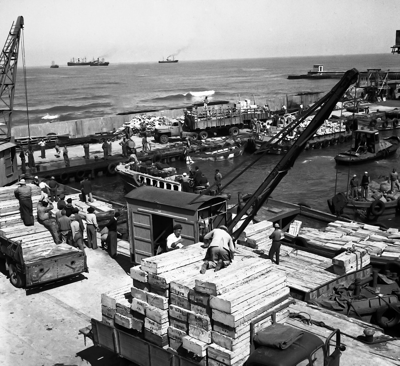
MULTIPOLYGON (((288 171, 294 165, 294 162, 296 161, 298 156, 306 148, 307 141, 310 140, 314 133, 316 133, 318 128, 324 123, 325 119, 329 117, 336 103, 338 103, 348 87, 357 82, 358 77, 359 72, 356 69, 346 71, 342 79, 340 79, 340 81, 332 88, 332 90, 328 94, 326 94, 322 99, 316 102, 309 110, 306 111, 306 113, 303 113, 297 121, 292 122, 290 125, 288 125, 284 130, 281 131, 280 135, 277 136, 278 141, 282 140, 284 136, 293 131, 293 129, 298 126, 305 117, 307 117, 319 108, 308 126, 304 128, 304 131, 302 131, 302 133, 300 133, 297 140, 290 147, 288 152, 286 152, 280 162, 278 162, 275 168, 270 172, 270 174, 268 174, 266 179, 260 184, 254 194, 252 194, 252 196, 250 196, 250 198, 246 200, 245 204, 238 209, 237 215, 228 224, 228 231, 232 232, 234 226, 238 224, 241 218, 245 214, 247 214, 248 210, 253 206, 251 213, 243 220, 240 227, 234 233, 232 233, 232 239, 236 240, 239 237, 244 228, 246 228, 248 223, 253 219, 258 210, 261 208, 261 206, 266 202, 266 200, 268 200, 268 197, 270 196, 272 191, 276 188, 276 186, 284 178, 284 176, 286 176, 288 171)), ((264 152, 267 151, 268 143, 262 145, 259 150, 264 152)), ((242 174, 247 168, 236 175, 236 177, 242 174)), ((236 177, 232 180, 236 179, 236 177)), ((230 180, 230 182, 232 182, 232 180, 230 180)), ((230 184, 230 182, 225 184, 222 189, 230 184)))

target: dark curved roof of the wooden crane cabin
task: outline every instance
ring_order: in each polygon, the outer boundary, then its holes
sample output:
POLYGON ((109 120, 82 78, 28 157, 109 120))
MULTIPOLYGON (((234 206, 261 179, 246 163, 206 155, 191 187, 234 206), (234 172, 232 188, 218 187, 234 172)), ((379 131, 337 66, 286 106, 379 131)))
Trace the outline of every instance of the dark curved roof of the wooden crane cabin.
POLYGON ((220 196, 199 196, 198 194, 179 192, 155 187, 142 186, 130 191, 125 198, 129 200, 158 203, 171 207, 179 207, 184 210, 196 211, 202 205, 208 206, 212 203, 224 202, 225 198, 220 196), (189 204, 194 198, 198 200, 189 204))

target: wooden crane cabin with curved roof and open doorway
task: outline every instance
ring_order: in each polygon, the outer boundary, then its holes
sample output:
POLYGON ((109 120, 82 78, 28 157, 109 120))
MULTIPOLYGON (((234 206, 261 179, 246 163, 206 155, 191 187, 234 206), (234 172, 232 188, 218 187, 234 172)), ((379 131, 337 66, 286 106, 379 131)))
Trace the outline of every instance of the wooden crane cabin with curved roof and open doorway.
POLYGON ((226 225, 226 200, 220 196, 142 186, 126 196, 130 235, 130 257, 134 263, 152 257, 158 246, 165 248, 166 237, 175 224, 182 225, 183 244, 198 243, 202 236, 226 225), (190 203, 195 198, 196 202, 190 203))

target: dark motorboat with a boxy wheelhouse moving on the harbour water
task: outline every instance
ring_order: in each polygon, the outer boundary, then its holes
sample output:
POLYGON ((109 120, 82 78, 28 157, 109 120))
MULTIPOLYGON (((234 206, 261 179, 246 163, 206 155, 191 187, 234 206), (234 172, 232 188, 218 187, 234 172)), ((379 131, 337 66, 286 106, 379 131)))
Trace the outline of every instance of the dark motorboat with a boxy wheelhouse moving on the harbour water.
POLYGON ((379 131, 371 129, 358 129, 354 131, 356 140, 354 148, 340 152, 335 156, 337 164, 358 164, 371 160, 385 159, 393 155, 400 146, 400 138, 391 136, 379 139, 379 131))

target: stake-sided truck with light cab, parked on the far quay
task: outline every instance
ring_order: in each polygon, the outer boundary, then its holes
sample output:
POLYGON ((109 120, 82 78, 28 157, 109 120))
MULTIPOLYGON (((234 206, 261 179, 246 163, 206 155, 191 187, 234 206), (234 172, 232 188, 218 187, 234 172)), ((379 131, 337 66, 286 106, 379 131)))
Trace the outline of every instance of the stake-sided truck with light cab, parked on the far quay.
POLYGON ((184 111, 184 122, 171 121, 166 126, 154 129, 154 139, 166 144, 170 138, 186 138, 192 141, 205 140, 217 134, 237 136, 240 129, 247 127, 256 117, 260 121, 268 118, 268 113, 256 108, 244 108, 239 103, 229 105, 227 101, 214 101, 204 108, 197 103, 184 111))

